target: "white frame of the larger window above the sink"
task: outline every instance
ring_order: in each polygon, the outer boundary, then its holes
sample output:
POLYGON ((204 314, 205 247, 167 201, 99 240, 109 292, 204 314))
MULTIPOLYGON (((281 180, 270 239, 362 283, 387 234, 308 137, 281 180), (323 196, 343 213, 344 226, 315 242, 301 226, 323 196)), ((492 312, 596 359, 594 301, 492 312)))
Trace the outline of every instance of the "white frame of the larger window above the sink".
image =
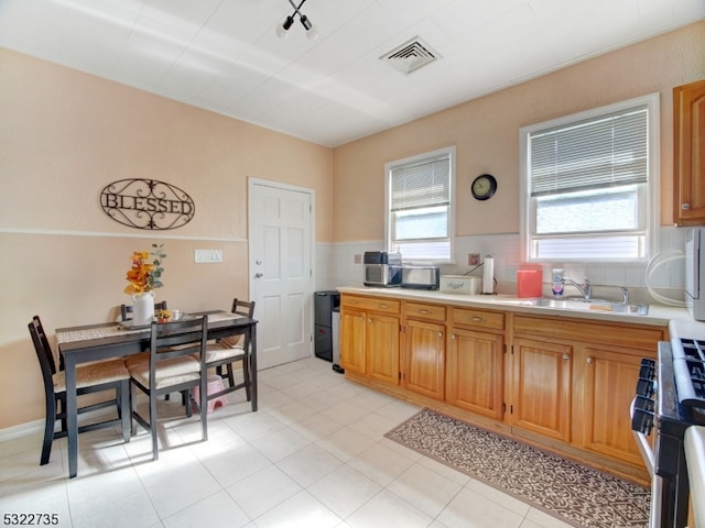
MULTIPOLYGON (((659 243, 659 167, 660 167, 660 108, 659 108, 659 94, 650 94, 648 96, 637 97, 626 101, 608 105, 605 107, 595 108, 579 113, 565 116, 551 121, 523 127, 519 131, 519 145, 520 145, 520 238, 521 238, 521 254, 527 262, 535 263, 550 263, 550 262, 599 262, 599 263, 646 263, 657 252, 659 243), (642 255, 634 258, 616 258, 616 257, 601 257, 593 255, 583 255, 581 257, 563 257, 556 258, 542 258, 532 254, 532 244, 535 239, 535 198, 530 196, 530 136, 533 133, 555 129, 562 127, 568 127, 573 123, 581 121, 597 119, 610 113, 625 111, 636 107, 646 106, 648 109, 648 183, 642 185, 648 197, 643 197, 640 193, 639 202, 646 207, 644 219, 644 238, 642 255)), ((566 235, 565 238, 570 238, 566 235)), ((577 237, 576 237, 577 239, 577 237)))

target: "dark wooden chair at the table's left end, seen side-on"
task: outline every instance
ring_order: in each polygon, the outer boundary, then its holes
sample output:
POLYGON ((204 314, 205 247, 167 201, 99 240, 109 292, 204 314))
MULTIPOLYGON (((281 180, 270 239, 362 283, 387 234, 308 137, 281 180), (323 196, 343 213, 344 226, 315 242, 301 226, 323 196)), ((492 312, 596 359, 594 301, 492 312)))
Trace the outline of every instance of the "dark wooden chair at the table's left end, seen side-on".
MULTIPOLYGON (((48 463, 52 452, 52 442, 57 438, 63 438, 66 432, 66 378, 63 371, 56 372, 54 353, 48 344, 48 339, 39 316, 34 316, 28 324, 32 343, 36 351, 36 358, 42 370, 44 382, 44 399, 46 403, 46 418, 44 420, 44 442, 42 444, 42 457, 40 465, 48 463), (61 420, 61 429, 54 431, 56 420, 61 420)), ((76 370, 77 394, 98 393, 104 391, 115 391, 115 398, 98 404, 87 405, 78 408, 78 415, 91 410, 98 410, 116 406, 118 418, 93 422, 80 426, 78 432, 93 431, 106 427, 113 427, 120 424, 122 427, 122 438, 130 441, 130 373, 122 360, 102 361, 89 365, 79 366, 76 370)))

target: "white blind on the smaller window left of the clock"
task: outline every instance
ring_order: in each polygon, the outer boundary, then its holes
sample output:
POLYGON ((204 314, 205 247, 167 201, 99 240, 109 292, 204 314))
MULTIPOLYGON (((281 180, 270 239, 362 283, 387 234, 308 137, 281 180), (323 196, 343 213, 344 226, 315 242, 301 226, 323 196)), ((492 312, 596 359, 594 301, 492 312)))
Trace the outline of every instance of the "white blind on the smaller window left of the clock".
POLYGON ((451 205, 451 156, 400 165, 390 173, 392 212, 451 205))

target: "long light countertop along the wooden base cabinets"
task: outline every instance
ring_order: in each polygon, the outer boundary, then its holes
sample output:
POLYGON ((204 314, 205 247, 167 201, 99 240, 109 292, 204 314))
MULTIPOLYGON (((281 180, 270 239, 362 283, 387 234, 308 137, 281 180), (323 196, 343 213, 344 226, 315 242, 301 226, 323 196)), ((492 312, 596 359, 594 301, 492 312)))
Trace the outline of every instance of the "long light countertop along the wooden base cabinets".
MULTIPOLYGON (((377 288, 368 286, 341 286, 337 288, 341 294, 369 295, 375 297, 387 297, 399 300, 417 300, 425 302, 440 302, 445 305, 485 308, 499 311, 511 311, 520 314, 532 314, 552 317, 565 317, 571 319, 590 319, 596 321, 620 321, 631 324, 646 324, 665 327, 671 320, 683 321, 682 328, 685 331, 702 332, 705 337, 705 322, 693 321, 685 308, 676 308, 663 305, 649 305, 649 314, 639 316, 634 314, 604 312, 590 310, 566 310, 560 308, 539 307, 521 304, 528 299, 520 299, 512 295, 460 295, 447 294, 440 290, 423 290, 411 288, 377 288), (690 322, 691 324, 685 324, 690 322)), ((682 337, 685 333, 681 334, 682 337)))

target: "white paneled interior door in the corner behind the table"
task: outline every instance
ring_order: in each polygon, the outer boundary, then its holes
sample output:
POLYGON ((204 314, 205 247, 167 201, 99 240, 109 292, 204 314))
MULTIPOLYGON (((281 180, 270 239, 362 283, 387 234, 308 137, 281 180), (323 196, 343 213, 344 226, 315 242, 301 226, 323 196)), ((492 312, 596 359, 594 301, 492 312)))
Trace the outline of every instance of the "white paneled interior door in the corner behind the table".
POLYGON ((257 363, 267 369, 312 354, 314 191, 257 178, 248 186, 257 363))

